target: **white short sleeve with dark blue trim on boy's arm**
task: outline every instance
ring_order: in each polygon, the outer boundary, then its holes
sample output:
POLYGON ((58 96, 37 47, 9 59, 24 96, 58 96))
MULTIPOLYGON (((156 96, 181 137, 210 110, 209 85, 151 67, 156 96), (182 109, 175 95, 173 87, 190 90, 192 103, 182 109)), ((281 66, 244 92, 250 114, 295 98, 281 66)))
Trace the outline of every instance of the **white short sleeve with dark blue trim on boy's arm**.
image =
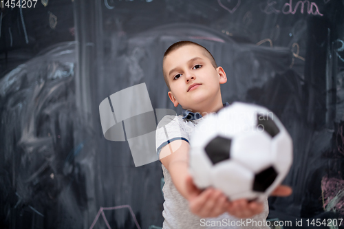
POLYGON ((181 119, 178 116, 164 116, 159 122, 155 132, 155 145, 159 160, 161 149, 170 142, 175 140, 189 142, 189 134, 182 127, 183 122, 181 119))

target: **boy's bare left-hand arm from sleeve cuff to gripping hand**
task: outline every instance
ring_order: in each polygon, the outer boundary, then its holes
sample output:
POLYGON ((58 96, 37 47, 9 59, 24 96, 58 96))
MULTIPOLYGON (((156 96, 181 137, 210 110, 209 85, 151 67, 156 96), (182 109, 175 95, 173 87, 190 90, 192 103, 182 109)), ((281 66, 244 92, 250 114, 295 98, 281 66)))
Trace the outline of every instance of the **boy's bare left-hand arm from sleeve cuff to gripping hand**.
POLYGON ((188 153, 189 143, 184 140, 175 140, 162 148, 160 161, 169 171, 175 188, 189 201, 193 214, 199 217, 222 215, 229 204, 226 196, 220 190, 207 188, 202 191, 193 184, 189 174, 188 153))

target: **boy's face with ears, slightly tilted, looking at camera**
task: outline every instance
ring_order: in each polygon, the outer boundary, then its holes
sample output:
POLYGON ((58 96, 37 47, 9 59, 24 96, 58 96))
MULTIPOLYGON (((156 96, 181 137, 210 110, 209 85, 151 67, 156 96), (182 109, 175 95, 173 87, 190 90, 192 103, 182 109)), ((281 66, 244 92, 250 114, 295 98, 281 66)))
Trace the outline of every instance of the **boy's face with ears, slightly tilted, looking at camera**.
POLYGON ((185 45, 165 56, 163 71, 175 107, 180 104, 195 111, 197 105, 221 98, 220 84, 226 83, 226 73, 222 67, 215 69, 205 52, 202 47, 185 45))

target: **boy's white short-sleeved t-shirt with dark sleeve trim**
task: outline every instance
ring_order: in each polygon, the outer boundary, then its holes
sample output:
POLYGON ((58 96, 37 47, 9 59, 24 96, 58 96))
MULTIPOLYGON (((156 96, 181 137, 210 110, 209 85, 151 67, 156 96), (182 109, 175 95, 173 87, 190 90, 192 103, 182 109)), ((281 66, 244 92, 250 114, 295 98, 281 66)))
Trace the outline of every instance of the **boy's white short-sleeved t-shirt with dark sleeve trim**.
MULTIPOLYGON (((162 147, 174 140, 185 140, 189 142, 189 136, 193 133, 195 126, 201 118, 196 120, 183 119, 183 116, 164 116, 159 122, 156 131, 156 149, 158 158, 162 147)), ((164 217, 163 229, 198 229, 198 228, 264 228, 266 217, 268 217, 268 199, 264 201, 264 210, 259 215, 250 219, 237 219, 225 212, 219 217, 202 219, 193 215, 189 208, 189 202, 175 188, 169 171, 162 164, 165 184, 162 188, 164 193, 164 217), (251 223, 250 223, 251 222, 251 223)))

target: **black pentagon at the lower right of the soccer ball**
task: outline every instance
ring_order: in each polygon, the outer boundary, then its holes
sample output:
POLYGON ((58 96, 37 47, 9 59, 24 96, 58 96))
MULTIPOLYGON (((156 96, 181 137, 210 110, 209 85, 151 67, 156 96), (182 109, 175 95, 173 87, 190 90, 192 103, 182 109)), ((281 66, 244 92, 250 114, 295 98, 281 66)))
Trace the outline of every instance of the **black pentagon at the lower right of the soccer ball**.
POLYGON ((255 182, 253 182, 253 190, 256 192, 265 192, 270 185, 275 182, 277 172, 272 166, 264 169, 255 175, 255 182))

